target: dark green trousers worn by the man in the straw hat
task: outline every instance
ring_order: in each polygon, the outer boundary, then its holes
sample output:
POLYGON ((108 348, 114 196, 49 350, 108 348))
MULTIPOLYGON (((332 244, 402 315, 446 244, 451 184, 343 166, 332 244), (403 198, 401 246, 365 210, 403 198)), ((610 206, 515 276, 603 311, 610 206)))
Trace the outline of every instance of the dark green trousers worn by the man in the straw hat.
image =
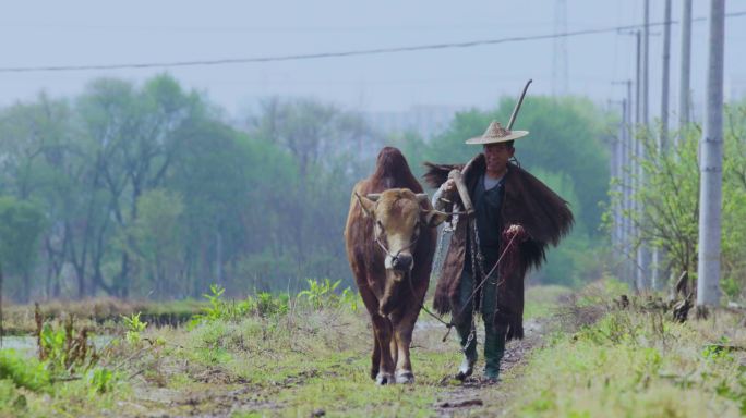
MULTIPOLYGON (((494 275, 488 278, 486 283, 481 288, 481 292, 484 294, 480 309, 484 321, 484 377, 489 379, 496 379, 498 377, 500 361, 503 359, 503 354, 505 354, 505 331, 496 330, 493 323, 495 309, 497 308, 495 297, 497 280, 494 275)), ((464 271, 459 286, 459 302, 464 314, 457 319, 456 330, 460 337, 464 355, 472 364, 477 361, 477 335, 474 334, 471 341, 469 341, 472 327, 476 327, 476 323, 472 324, 472 304, 474 298, 480 297, 478 293, 470 299, 474 286, 474 276, 470 272, 464 271)))

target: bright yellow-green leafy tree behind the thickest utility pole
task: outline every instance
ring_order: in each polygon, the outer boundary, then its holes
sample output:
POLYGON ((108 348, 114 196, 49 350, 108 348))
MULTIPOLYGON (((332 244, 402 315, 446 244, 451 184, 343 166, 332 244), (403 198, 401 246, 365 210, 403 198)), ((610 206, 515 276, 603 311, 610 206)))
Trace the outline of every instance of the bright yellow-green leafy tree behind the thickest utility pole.
MULTIPOLYGON (((723 158, 722 283, 731 298, 746 288, 746 104, 726 108, 723 158)), ((633 199, 642 212, 625 213, 639 231, 641 242, 663 249, 662 270, 678 276, 687 272, 696 280, 699 222, 699 162, 701 131, 698 126, 677 133, 678 147, 669 153, 658 150, 654 138, 641 137, 648 158, 641 161, 646 184, 633 199)), ((613 197, 618 201, 618 196, 613 197)), ((694 290, 695 287, 689 287, 694 290)))

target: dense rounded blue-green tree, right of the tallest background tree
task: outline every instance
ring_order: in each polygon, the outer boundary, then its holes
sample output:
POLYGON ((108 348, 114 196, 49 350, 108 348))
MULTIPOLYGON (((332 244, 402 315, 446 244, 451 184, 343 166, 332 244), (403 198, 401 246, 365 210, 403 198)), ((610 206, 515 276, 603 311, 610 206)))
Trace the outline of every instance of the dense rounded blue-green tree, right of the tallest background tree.
POLYGON ((183 258, 200 296, 210 283, 227 286, 226 265, 273 246, 282 226, 278 195, 292 184, 292 160, 272 144, 252 140, 217 122, 189 123, 179 132, 165 186, 183 197, 183 258))

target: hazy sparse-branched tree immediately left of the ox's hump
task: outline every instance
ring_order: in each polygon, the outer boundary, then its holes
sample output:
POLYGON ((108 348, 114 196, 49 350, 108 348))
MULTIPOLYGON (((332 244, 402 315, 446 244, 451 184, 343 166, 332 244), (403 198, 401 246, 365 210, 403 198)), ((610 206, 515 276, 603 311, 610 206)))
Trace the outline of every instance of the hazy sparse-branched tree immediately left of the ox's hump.
POLYGON ((366 176, 382 144, 358 114, 309 99, 269 99, 251 118, 251 137, 279 145, 297 167, 281 186, 279 259, 302 275, 346 274, 341 236, 349 193, 366 176))

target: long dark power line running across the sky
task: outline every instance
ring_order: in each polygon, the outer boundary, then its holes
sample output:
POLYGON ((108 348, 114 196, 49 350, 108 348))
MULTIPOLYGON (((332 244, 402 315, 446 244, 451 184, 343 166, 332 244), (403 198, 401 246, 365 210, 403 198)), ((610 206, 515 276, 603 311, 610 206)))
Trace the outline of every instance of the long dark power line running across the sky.
MULTIPOLYGON (((727 13, 726 17, 738 17, 745 16, 746 11, 727 13)), ((693 22, 707 21, 707 17, 696 17, 691 20, 693 22)), ((671 21, 672 24, 678 23, 677 21, 671 21)), ((649 24, 649 26, 662 26, 665 22, 655 22, 649 24)), ((264 62, 280 62, 280 61, 299 61, 299 60, 315 60, 324 58, 341 58, 341 57, 357 57, 357 56, 374 56, 383 53, 396 53, 396 52, 411 52, 411 51, 424 51, 424 50, 436 50, 436 49, 452 49, 452 48, 471 48, 484 45, 497 45, 497 44, 508 44, 508 42, 520 42, 527 40, 541 40, 541 39, 556 39, 556 38, 567 38, 581 35, 595 35, 604 33, 614 33, 621 30, 629 30, 640 28, 643 25, 626 25, 626 26, 615 26, 599 29, 583 29, 583 30, 570 30, 562 34, 546 34, 546 35, 533 35, 533 36, 515 36, 508 38, 498 39, 482 39, 482 40, 470 40, 465 42, 449 42, 449 44, 431 44, 431 45, 419 45, 411 47, 393 47, 393 48, 374 48, 374 49, 360 49, 352 51, 341 51, 341 52, 320 52, 320 53, 301 53, 301 54, 289 54, 289 56, 274 56, 274 57, 253 57, 253 58, 227 58, 218 60, 190 60, 190 61, 171 61, 171 62, 145 62, 145 63, 131 63, 131 64, 91 64, 91 65, 43 65, 43 66, 4 66, 0 67, 0 73, 31 73, 31 72, 57 72, 57 71, 88 71, 88 70, 137 70, 137 69, 152 69, 152 67, 179 67, 179 66, 197 66, 197 65, 229 65, 229 64, 248 64, 248 63, 264 63, 264 62)))

